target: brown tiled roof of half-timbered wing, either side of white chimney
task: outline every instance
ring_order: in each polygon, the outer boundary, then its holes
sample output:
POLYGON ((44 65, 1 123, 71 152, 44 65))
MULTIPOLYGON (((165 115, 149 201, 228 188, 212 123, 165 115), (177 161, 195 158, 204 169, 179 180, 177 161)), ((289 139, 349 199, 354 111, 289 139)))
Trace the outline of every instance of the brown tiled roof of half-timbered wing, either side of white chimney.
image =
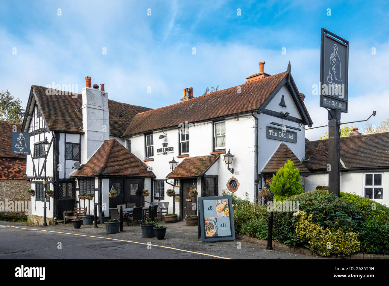
MULTIPOLYGON (((49 89, 47 95, 44 86, 32 85, 32 88, 50 130, 82 133, 82 94, 64 94, 64 91, 49 89)), ((115 137, 123 135, 135 114, 150 110, 114 100, 108 100, 108 107, 109 133, 115 137)))

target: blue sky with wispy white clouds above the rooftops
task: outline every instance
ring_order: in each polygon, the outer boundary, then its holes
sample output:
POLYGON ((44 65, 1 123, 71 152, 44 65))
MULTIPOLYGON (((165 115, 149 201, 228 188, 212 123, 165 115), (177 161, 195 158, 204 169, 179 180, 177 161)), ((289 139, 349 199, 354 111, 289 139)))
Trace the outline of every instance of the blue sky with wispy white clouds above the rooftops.
MULTIPOLYGON (((373 125, 389 118, 384 1, 18 1, 2 3, 0 19, 0 90, 23 105, 31 84, 77 84, 81 93, 88 75, 92 84, 105 84, 110 99, 157 108, 179 102, 183 88, 200 96, 217 84, 242 84, 259 61, 269 74, 291 61, 314 126, 324 125, 327 112, 312 95, 323 27, 350 42, 349 113, 342 121, 366 119, 373 110, 373 125)), ((306 135, 315 140, 325 131, 306 135)))

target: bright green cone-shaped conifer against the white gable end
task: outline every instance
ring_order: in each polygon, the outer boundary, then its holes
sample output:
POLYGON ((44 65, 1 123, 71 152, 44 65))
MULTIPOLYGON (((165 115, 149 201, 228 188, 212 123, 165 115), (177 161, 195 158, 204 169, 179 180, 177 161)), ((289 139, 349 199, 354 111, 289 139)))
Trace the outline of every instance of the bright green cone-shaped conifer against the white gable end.
POLYGON ((273 175, 273 182, 270 190, 274 193, 276 200, 284 200, 293 195, 303 193, 303 186, 300 182, 300 171, 294 168, 293 161, 288 160, 284 167, 280 168, 273 175))

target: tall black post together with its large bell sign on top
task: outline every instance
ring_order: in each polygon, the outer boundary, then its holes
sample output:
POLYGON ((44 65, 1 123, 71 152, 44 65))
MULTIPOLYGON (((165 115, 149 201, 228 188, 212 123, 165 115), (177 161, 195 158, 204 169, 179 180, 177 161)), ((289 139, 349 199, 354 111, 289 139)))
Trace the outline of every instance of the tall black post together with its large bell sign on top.
POLYGON ((321 29, 320 107, 328 110, 328 191, 340 196, 340 115, 348 111, 349 42, 321 29))

